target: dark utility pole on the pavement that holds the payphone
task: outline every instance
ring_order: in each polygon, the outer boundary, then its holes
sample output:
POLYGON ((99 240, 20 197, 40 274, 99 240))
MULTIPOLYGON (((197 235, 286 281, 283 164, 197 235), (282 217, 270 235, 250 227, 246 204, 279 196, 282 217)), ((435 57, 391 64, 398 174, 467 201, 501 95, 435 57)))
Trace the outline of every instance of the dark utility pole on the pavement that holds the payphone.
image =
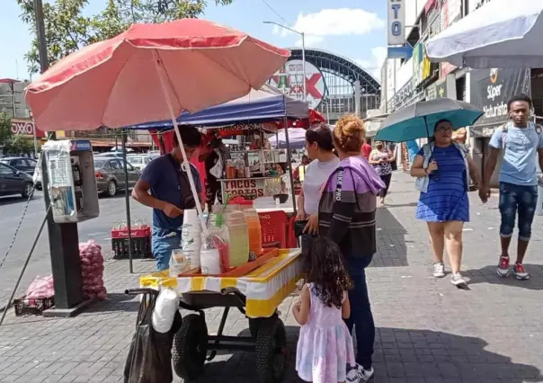
MULTIPOLYGON (((34 15, 40 71, 43 73, 49 69, 49 58, 47 56, 47 41, 45 40, 42 0, 34 0, 34 15)), ((48 139, 57 139, 56 133, 54 131, 48 132, 48 139)), ((42 154, 43 156, 45 155, 42 154)), ((82 295, 77 224, 58 224, 53 219, 53 213, 49 209, 51 204, 51 200, 49 200, 49 174, 45 158, 41 160, 41 178, 43 200, 45 200, 45 209, 48 211, 47 227, 51 271, 55 280, 55 309, 45 310, 43 316, 75 316, 85 304, 82 295)))

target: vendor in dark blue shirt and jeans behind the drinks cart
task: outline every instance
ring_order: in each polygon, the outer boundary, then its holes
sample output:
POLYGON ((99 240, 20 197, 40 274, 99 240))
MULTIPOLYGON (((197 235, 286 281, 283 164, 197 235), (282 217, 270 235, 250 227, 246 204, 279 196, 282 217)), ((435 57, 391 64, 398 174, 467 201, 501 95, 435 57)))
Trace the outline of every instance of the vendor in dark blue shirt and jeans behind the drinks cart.
MULTIPOLYGON (((180 128, 180 133, 187 158, 191 159, 200 147, 201 134, 198 129, 185 126, 180 128)), ((181 164, 181 148, 174 135, 172 152, 151 161, 132 191, 134 200, 153 208, 152 251, 158 271, 168 269, 172 251, 181 245, 183 210, 196 207, 187 174, 181 170, 181 164)), ((191 175, 200 195, 200 174, 192 165, 191 175)))

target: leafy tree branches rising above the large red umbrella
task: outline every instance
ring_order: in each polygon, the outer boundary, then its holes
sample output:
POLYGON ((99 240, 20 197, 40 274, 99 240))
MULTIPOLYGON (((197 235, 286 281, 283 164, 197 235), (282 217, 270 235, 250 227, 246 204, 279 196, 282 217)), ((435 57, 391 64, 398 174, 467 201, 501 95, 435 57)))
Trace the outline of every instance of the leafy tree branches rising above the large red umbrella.
MULTIPOLYGON (((214 0, 215 4, 227 5, 233 0, 214 0)), ((36 35, 33 0, 17 0, 21 6, 23 22, 31 26, 36 35)), ((184 17, 198 17, 206 8, 206 0, 108 0, 105 9, 91 16, 84 15, 88 0, 57 0, 43 3, 45 40, 49 63, 92 44, 110 39, 126 31, 135 22, 168 22, 184 17)), ((25 55, 30 74, 39 72, 38 41, 33 40, 25 55)))

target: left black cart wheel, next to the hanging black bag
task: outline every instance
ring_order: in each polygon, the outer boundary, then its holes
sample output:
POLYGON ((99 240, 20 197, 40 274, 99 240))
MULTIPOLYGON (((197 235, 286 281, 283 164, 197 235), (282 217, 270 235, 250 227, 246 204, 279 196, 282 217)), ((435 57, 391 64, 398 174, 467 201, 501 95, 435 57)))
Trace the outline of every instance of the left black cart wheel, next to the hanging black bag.
POLYGON ((203 372, 208 353, 208 326, 203 316, 191 314, 182 318, 182 325, 174 336, 172 361, 179 378, 197 379, 203 372))

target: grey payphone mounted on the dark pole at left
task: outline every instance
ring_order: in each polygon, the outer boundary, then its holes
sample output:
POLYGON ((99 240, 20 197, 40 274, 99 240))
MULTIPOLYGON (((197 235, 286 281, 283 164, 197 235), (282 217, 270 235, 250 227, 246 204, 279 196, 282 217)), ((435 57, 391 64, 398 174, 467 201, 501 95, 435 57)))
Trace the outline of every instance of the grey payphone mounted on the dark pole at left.
POLYGON ((93 147, 88 140, 48 141, 41 147, 53 220, 76 223, 100 215, 93 147))

